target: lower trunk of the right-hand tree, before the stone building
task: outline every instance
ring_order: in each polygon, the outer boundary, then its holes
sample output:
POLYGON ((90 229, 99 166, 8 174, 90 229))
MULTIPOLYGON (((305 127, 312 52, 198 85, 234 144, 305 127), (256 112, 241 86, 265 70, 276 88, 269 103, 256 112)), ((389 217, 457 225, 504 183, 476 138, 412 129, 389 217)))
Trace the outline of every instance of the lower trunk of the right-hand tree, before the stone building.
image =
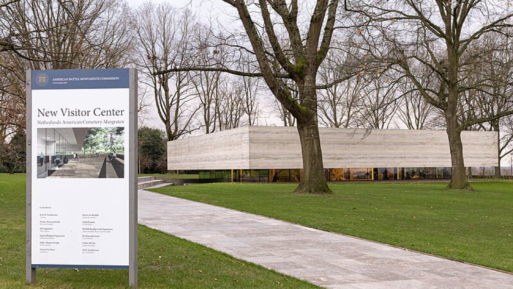
POLYGON ((449 137, 449 149, 451 151, 452 174, 448 189, 467 189, 472 190, 467 175, 465 173, 465 163, 463 161, 463 144, 461 142, 461 131, 450 128, 448 122, 447 136, 449 137))

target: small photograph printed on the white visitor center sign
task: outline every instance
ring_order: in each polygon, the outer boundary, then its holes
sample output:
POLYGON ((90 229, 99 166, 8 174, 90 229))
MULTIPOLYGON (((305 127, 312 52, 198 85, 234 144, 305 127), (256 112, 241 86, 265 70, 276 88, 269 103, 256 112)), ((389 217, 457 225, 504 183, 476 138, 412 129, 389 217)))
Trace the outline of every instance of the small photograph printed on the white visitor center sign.
POLYGON ((124 127, 37 129, 38 178, 124 178, 124 127))

